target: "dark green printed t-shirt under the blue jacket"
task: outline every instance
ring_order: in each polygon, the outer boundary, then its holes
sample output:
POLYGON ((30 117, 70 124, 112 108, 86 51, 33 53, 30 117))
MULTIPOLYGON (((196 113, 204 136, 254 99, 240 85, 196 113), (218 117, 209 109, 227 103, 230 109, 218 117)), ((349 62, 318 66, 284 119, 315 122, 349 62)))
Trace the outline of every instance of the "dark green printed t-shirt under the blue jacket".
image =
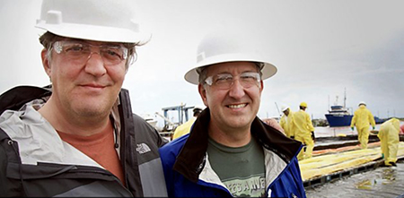
POLYGON ((209 138, 207 155, 211 167, 233 196, 265 196, 265 159, 259 143, 228 147, 209 138))

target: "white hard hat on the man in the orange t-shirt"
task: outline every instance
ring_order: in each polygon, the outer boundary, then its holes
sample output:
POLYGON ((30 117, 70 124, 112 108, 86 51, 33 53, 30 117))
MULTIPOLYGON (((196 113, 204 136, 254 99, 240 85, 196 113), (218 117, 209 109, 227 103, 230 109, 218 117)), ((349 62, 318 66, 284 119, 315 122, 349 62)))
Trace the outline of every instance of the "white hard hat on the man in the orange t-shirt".
POLYGON ((35 27, 75 39, 142 42, 149 35, 139 32, 132 3, 131 0, 43 0, 35 27))

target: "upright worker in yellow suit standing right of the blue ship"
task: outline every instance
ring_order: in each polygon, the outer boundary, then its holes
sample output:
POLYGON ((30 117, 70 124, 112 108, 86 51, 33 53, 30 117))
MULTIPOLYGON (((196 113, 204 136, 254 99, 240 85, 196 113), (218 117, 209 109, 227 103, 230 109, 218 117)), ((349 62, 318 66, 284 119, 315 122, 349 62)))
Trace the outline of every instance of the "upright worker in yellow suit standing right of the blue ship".
POLYGON ((351 120, 351 129, 354 131, 356 126, 357 139, 361 143, 362 149, 367 149, 367 142, 369 142, 369 125, 372 125, 374 130, 374 117, 372 112, 366 108, 364 101, 359 102, 359 108, 356 109, 354 116, 351 120))

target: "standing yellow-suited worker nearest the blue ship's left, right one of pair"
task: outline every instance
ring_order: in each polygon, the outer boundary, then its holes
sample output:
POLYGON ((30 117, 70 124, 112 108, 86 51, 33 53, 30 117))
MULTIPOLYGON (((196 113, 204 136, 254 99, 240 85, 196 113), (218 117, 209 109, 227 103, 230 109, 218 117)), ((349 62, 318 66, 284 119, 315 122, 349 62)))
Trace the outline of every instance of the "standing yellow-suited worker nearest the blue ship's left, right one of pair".
POLYGON ((314 127, 312 126, 312 119, 310 115, 305 111, 307 103, 300 103, 300 110, 294 113, 294 140, 302 142, 306 145, 305 151, 300 151, 297 155, 297 159, 309 159, 312 158, 312 149, 314 148, 314 127))

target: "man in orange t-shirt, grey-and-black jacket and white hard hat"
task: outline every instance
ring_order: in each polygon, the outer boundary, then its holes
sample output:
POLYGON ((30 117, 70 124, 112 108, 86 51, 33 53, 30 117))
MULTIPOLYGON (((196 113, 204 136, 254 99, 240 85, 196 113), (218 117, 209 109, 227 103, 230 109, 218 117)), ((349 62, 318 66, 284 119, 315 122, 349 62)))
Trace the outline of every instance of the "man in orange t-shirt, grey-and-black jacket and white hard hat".
POLYGON ((121 89, 145 42, 132 1, 44 0, 46 88, 0 96, 2 196, 166 196, 159 133, 121 89))

